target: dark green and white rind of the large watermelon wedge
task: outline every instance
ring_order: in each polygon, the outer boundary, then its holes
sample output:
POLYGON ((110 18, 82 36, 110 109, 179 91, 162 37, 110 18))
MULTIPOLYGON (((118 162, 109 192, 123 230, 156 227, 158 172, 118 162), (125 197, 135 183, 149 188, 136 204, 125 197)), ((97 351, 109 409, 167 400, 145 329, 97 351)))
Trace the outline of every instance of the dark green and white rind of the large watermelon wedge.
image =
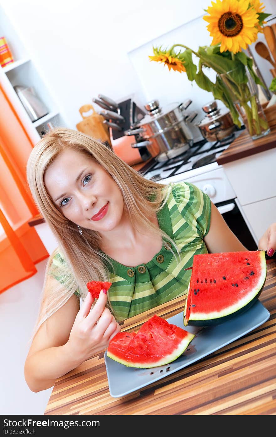
MULTIPOLYGON (((232 319, 235 316, 238 316, 242 314, 243 312, 247 311, 249 308, 252 307, 252 305, 258 300, 262 289, 266 282, 266 274, 267 274, 267 268, 266 268, 266 258, 265 258, 265 252, 260 253, 261 262, 260 262, 260 268, 262 271, 262 274, 259 278, 259 282, 256 285, 255 288, 252 289, 251 293, 245 296, 244 303, 242 306, 240 306, 241 301, 239 303, 232 305, 228 308, 226 308, 224 311, 225 313, 221 312, 213 312, 209 314, 204 313, 195 313, 190 316, 188 322, 185 319, 186 315, 186 309, 187 309, 187 298, 184 308, 184 326, 208 326, 208 325, 218 325, 219 323, 226 322, 227 320, 232 319), (222 313, 222 314, 221 314, 222 313), (192 318, 191 318, 192 317, 192 318)), ((188 290, 190 289, 190 283, 188 285, 188 290)), ((187 294, 188 297, 188 294, 187 294)))

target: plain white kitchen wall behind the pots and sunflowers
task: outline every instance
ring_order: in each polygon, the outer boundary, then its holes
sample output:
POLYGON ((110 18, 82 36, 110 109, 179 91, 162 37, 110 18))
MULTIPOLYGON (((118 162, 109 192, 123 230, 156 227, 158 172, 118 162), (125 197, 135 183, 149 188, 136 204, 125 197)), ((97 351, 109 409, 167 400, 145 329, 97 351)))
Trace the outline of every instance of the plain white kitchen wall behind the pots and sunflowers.
MULTIPOLYGON (((133 96, 142 108, 151 98, 158 98, 161 105, 191 98, 189 109, 198 109, 202 117, 201 106, 212 100, 211 93, 192 86, 185 74, 169 73, 147 59, 152 42, 182 42, 195 49, 209 44, 207 23, 201 17, 211 1, 0 3, 72 128, 81 120, 78 109, 92 104, 99 93, 116 101, 133 96), (143 55, 143 62, 135 62, 137 53, 143 55)), ((275 0, 264 3, 276 13, 275 0)), ((95 109, 100 108, 95 105, 95 109)))

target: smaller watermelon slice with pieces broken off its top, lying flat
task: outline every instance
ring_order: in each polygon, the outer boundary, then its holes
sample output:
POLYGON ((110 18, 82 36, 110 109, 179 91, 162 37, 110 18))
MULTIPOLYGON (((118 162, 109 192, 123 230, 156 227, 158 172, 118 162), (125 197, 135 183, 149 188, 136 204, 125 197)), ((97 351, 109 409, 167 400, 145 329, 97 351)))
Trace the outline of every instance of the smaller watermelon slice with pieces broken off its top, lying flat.
POLYGON ((194 334, 155 315, 137 333, 116 334, 109 342, 107 356, 128 367, 162 366, 183 354, 193 338, 194 334))

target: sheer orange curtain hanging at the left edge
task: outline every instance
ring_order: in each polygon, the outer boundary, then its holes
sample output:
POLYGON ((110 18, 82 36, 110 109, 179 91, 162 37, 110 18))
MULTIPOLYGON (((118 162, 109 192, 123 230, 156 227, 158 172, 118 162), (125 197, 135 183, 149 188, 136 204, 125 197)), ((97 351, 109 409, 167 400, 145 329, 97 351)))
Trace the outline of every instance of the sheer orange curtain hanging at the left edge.
POLYGON ((39 212, 27 185, 33 144, 0 86, 0 293, 37 272, 49 256, 28 222, 39 212))

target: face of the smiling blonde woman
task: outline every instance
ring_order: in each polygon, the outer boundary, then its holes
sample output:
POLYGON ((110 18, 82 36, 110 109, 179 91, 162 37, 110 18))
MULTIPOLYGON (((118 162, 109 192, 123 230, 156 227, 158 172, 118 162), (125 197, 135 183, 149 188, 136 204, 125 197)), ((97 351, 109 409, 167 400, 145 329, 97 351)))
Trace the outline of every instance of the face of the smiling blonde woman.
POLYGON ((58 210, 81 228, 111 231, 123 217, 123 196, 116 182, 92 158, 75 150, 57 156, 44 174, 44 184, 58 210))

